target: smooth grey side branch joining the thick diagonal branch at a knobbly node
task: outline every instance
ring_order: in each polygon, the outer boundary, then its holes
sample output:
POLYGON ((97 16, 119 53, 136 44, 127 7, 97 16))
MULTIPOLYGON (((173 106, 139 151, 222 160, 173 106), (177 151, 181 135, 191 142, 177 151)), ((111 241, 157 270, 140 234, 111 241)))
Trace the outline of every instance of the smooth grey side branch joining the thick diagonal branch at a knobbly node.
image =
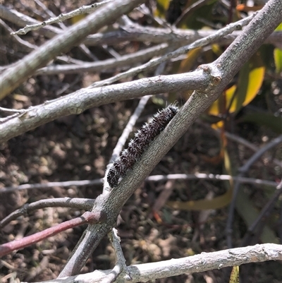
POLYGON ((46 102, 38 107, 30 107, 23 114, 10 116, 1 126, 1 142, 19 136, 61 116, 80 114, 94 106, 128 100, 160 92, 205 89, 209 82, 208 76, 201 71, 171 76, 142 78, 129 83, 109 85, 106 87, 83 88, 71 95, 46 102))

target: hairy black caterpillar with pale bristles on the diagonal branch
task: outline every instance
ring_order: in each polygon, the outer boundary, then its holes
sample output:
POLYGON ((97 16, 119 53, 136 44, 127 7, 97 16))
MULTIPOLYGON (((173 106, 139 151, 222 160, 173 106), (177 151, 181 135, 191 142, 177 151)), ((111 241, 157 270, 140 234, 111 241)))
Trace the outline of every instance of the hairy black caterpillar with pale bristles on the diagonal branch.
POLYGON ((149 143, 151 143, 161 131, 164 131, 166 125, 173 119, 177 112, 178 107, 174 104, 168 105, 168 107, 155 114, 149 123, 143 125, 142 128, 135 133, 135 138, 130 140, 128 149, 121 152, 121 155, 109 169, 107 181, 111 188, 118 186, 118 179, 125 176, 125 174, 133 168, 133 165, 140 159, 142 153, 149 146, 149 143))

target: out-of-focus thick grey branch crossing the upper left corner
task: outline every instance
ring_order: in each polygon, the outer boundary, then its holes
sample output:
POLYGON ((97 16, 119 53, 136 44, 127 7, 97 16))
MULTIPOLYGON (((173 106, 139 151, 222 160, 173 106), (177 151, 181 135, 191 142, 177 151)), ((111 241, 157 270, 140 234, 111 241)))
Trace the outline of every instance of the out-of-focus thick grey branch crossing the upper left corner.
POLYGON ((90 33, 97 32, 99 28, 111 23, 124 13, 128 13, 143 2, 145 0, 116 0, 105 4, 78 24, 68 28, 66 32, 57 35, 42 47, 25 56, 23 60, 18 61, 15 66, 8 68, 2 74, 0 100, 17 88, 20 83, 23 83, 37 68, 44 66, 61 52, 66 52, 82 42, 90 33))

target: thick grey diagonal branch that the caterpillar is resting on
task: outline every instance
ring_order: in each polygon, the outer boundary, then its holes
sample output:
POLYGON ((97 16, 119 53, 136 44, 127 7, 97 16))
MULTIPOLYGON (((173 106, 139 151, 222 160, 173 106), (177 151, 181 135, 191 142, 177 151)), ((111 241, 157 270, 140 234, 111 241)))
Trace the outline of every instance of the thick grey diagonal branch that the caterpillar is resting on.
MULTIPOLYGON (((92 251, 116 222, 121 207, 135 189, 159 163, 166 152, 183 136, 197 117, 214 102, 240 67, 250 59, 257 48, 282 21, 281 0, 270 0, 251 21, 240 37, 212 64, 200 66, 197 72, 207 78, 206 90, 196 90, 163 132, 152 142, 118 187, 108 194, 99 195, 92 212, 103 211, 108 216, 104 224, 90 225, 75 247, 59 278, 77 274, 92 251)), ((184 74, 189 76, 189 74, 184 74)), ((197 89, 197 87, 195 88, 197 89)), ((175 91, 175 90, 174 90, 175 91)), ((166 275, 167 276, 167 275, 166 275)))

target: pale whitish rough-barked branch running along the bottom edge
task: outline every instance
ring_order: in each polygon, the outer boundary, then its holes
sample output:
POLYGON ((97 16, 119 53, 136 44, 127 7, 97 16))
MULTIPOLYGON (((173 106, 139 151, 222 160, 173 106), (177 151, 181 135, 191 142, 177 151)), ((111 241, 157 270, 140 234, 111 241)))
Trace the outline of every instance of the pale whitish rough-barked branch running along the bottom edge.
MULTIPOLYGON (((262 263, 266 260, 282 260, 282 246, 275 243, 265 243, 244 248, 231 248, 225 251, 192 255, 187 258, 164 260, 159 263, 130 265, 127 270, 132 278, 130 282, 148 282, 184 273, 204 272, 247 263, 262 263)), ((95 270, 83 275, 61 278, 60 283, 98 283, 106 279, 110 272, 111 270, 95 270)), ((56 282, 58 279, 44 283, 56 282)), ((128 282, 126 277, 120 276, 116 279, 116 283, 125 282, 128 282)))

